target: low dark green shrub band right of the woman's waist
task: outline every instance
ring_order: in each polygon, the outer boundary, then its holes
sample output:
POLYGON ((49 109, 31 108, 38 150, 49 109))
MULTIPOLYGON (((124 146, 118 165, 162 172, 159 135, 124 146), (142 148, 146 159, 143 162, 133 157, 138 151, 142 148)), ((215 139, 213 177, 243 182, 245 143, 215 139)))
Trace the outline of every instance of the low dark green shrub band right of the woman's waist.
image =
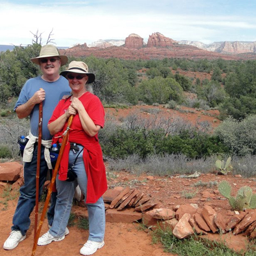
POLYGON ((102 151, 105 156, 124 158, 138 154, 142 159, 150 154, 184 154, 189 158, 225 153, 227 148, 216 136, 199 132, 181 132, 180 135, 166 136, 163 129, 124 129, 118 127, 112 134, 104 134, 102 151))

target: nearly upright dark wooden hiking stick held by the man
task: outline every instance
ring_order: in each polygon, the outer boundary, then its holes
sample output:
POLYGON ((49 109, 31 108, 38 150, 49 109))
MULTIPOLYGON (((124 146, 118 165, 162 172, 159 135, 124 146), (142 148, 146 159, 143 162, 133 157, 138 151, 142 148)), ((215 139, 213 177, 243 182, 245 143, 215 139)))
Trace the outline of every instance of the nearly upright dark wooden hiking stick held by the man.
MULTIPOLYGON (((42 88, 40 88, 42 90, 42 88)), ((38 223, 38 204, 39 204, 39 176, 41 163, 41 145, 42 145, 42 120, 43 120, 43 102, 39 103, 39 121, 38 121, 38 144, 37 144, 37 163, 36 163, 36 208, 35 208, 35 233, 38 223)))

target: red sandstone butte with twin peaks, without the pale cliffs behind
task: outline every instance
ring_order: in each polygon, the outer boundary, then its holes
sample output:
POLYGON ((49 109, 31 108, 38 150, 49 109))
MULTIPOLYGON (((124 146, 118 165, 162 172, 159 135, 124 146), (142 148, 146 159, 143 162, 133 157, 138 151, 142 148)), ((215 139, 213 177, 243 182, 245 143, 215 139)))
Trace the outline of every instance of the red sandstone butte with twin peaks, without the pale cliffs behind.
POLYGON ((222 58, 224 60, 255 60, 255 53, 223 54, 205 51, 198 47, 177 44, 171 38, 154 33, 148 38, 148 44, 143 47, 143 38, 131 34, 125 39, 125 45, 103 47, 88 47, 86 44, 76 45, 68 49, 60 49, 60 54, 74 57, 95 56, 96 58, 120 58, 124 60, 163 60, 163 58, 208 59, 222 58))

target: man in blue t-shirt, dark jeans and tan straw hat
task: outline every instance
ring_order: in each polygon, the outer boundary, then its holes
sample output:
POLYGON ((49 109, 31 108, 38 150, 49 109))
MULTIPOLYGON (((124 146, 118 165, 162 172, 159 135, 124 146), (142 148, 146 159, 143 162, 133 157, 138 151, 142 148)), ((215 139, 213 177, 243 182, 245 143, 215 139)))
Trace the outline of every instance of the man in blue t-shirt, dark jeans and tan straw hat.
MULTIPOLYGON (((54 45, 42 46, 40 56, 32 58, 31 61, 36 65, 40 65, 42 76, 26 81, 14 107, 14 111, 19 118, 29 116, 30 131, 29 141, 23 156, 24 185, 20 188, 20 197, 13 216, 12 232, 3 245, 5 250, 12 250, 26 238, 26 232, 31 222, 29 216, 35 207, 39 103, 43 102, 39 181, 39 195, 41 196, 47 171, 51 168, 49 148, 51 147, 52 136, 47 129, 47 124, 59 100, 64 95, 70 94, 67 79, 59 74, 60 67, 67 63, 68 58, 65 55, 60 55, 54 45)), ((54 201, 56 202, 56 195, 54 201)), ((51 225, 53 220, 54 206, 52 204, 48 212, 49 225, 51 225)), ((65 234, 68 234, 68 229, 66 229, 65 234)))

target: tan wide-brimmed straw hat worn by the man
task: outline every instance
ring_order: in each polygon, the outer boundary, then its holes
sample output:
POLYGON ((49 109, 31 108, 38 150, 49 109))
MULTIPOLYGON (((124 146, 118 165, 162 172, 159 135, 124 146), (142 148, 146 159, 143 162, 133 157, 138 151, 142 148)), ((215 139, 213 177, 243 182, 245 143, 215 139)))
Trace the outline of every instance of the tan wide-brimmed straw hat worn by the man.
POLYGON ((59 57, 61 61, 61 66, 65 65, 68 62, 68 57, 65 55, 60 55, 56 46, 51 44, 42 46, 40 55, 36 58, 32 58, 31 61, 37 65, 40 65, 39 60, 41 58, 49 57, 59 57))

